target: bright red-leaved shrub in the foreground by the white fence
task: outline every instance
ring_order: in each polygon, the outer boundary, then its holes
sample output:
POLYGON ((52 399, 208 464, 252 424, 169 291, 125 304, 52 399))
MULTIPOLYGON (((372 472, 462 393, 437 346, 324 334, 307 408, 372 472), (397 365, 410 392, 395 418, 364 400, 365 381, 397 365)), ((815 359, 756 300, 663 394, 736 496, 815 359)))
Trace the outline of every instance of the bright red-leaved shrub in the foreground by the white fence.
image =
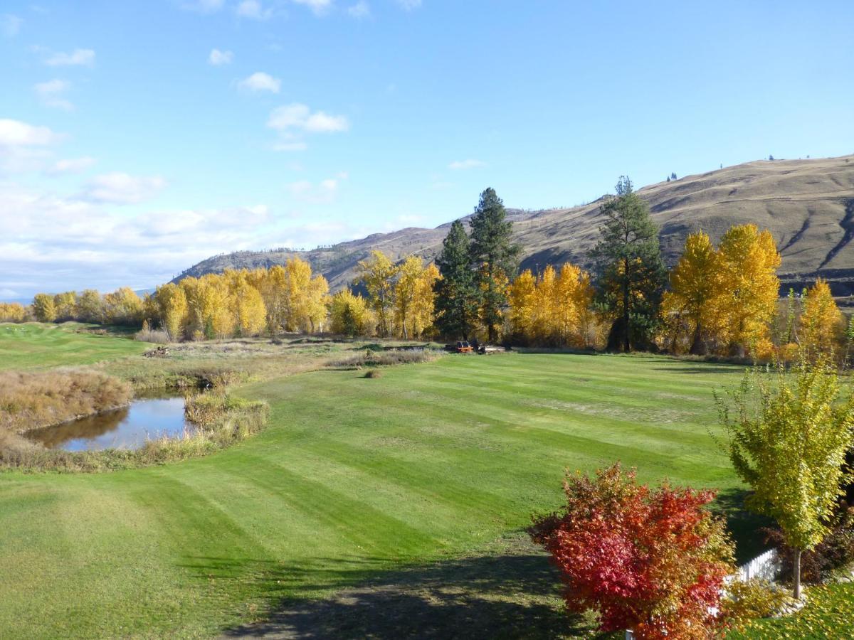
POLYGON ((652 490, 619 463, 593 479, 568 475, 564 492, 564 509, 529 533, 560 568, 570 611, 594 609, 600 631, 639 638, 705 637, 723 624, 716 611, 733 545, 704 509, 713 492, 652 490))

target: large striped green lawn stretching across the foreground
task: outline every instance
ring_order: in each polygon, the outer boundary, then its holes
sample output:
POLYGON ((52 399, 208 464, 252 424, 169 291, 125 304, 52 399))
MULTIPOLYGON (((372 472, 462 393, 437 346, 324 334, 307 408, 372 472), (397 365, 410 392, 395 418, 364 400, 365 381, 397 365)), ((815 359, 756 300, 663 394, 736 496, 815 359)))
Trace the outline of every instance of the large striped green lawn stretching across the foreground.
MULTIPOLYGON (((113 474, 0 474, 0 629, 203 637, 281 600, 401 567, 411 582, 465 558, 483 563, 461 569, 475 589, 481 567, 522 585, 514 572, 547 572, 544 556, 490 554, 521 539, 533 511, 559 506, 564 468, 620 460, 641 480, 740 491, 709 433, 712 389, 739 372, 643 356, 452 355, 378 379, 325 370, 239 388, 270 402, 271 422, 219 454, 113 474)), ((500 609, 511 617, 533 606, 517 591, 516 608, 500 609)), ((563 624, 551 602, 542 616, 563 624)), ((460 614, 470 625, 471 611, 460 614)))

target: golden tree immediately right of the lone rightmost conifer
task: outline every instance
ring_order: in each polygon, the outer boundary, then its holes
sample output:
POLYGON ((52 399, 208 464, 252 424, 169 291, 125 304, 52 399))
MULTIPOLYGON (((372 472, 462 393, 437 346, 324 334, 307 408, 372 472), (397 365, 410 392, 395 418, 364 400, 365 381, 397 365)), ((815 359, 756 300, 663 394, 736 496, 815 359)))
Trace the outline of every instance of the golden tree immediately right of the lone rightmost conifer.
POLYGON ((673 325, 685 320, 691 331, 689 351, 696 355, 706 352, 705 331, 718 329, 711 327, 716 319, 712 302, 720 287, 717 264, 717 252, 709 236, 703 231, 687 236, 679 262, 670 271, 670 291, 662 300, 664 317, 670 320, 674 332, 672 342, 679 337, 673 325))

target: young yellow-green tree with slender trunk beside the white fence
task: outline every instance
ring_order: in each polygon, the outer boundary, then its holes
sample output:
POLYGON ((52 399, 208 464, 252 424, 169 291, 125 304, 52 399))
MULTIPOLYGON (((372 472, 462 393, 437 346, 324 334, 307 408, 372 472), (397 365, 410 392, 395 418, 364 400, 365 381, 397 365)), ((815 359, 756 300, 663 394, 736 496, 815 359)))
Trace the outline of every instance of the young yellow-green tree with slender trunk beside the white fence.
POLYGON ((747 506, 777 521, 794 550, 793 591, 800 597, 800 556, 828 534, 843 495, 845 451, 854 440, 854 399, 840 401, 839 376, 828 359, 802 354, 793 374, 754 369, 717 397, 728 434, 721 441, 735 471, 752 486, 747 506))

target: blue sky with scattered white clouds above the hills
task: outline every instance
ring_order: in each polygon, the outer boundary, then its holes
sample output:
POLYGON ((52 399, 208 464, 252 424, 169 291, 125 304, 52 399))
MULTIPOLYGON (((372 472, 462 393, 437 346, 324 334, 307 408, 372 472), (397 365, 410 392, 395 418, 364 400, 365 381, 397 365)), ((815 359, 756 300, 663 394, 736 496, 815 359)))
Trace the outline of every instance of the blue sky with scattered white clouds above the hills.
POLYGON ((0 6, 0 300, 854 151, 851 2, 0 6))

